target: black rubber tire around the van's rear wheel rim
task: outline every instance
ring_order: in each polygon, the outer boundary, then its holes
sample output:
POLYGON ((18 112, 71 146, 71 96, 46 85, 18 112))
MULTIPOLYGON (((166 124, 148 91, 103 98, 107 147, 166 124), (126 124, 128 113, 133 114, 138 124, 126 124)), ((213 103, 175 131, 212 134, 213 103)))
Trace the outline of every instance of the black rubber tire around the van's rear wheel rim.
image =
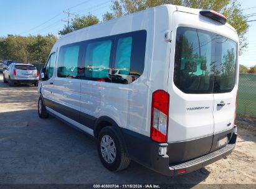
POLYGON ((118 132, 115 130, 115 127, 113 126, 103 127, 103 129, 100 131, 100 134, 98 135, 97 148, 98 148, 98 155, 100 157, 100 160, 104 165, 104 167, 106 167, 108 170, 118 172, 130 165, 131 159, 128 153, 126 152, 125 144, 121 139, 120 135, 118 135, 118 132), (115 144, 116 156, 113 162, 107 162, 107 160, 105 160, 103 157, 102 149, 104 148, 102 147, 101 142, 104 136, 110 137, 113 140, 113 143, 115 144))

